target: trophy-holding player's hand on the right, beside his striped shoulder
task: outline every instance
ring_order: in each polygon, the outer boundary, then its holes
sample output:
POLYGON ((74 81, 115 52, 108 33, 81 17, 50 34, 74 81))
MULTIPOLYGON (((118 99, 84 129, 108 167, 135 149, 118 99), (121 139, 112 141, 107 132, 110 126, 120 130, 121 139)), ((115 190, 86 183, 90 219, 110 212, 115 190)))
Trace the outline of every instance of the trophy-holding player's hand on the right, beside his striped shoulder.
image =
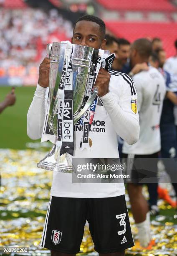
POLYGON ((106 69, 101 68, 96 78, 95 87, 98 89, 98 96, 102 97, 109 92, 109 81, 111 75, 106 69))

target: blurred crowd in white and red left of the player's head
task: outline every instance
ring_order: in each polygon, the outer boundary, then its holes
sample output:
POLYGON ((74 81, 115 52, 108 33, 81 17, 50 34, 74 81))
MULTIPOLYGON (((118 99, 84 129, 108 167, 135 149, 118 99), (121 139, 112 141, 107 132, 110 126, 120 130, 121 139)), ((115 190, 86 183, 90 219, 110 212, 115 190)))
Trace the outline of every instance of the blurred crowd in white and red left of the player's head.
POLYGON ((72 23, 53 9, 0 8, 0 77, 38 74, 46 44, 71 38, 72 23))

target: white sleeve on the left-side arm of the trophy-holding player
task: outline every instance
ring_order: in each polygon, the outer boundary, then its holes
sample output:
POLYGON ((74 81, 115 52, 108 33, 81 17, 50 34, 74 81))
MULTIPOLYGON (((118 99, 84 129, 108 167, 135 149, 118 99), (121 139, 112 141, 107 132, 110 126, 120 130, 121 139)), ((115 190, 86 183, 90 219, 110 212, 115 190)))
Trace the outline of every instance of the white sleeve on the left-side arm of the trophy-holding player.
POLYGON ((42 136, 46 110, 46 91, 47 88, 37 85, 33 101, 28 110, 27 135, 33 140, 42 136))

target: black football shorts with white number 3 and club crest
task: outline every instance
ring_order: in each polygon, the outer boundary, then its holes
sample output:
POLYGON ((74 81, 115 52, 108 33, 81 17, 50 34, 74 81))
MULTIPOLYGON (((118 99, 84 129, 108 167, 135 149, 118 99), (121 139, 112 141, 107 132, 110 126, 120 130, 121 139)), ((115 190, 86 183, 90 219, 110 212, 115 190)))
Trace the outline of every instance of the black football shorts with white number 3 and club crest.
POLYGON ((97 252, 114 253, 134 246, 124 195, 51 197, 40 246, 61 253, 78 253, 86 220, 97 252))

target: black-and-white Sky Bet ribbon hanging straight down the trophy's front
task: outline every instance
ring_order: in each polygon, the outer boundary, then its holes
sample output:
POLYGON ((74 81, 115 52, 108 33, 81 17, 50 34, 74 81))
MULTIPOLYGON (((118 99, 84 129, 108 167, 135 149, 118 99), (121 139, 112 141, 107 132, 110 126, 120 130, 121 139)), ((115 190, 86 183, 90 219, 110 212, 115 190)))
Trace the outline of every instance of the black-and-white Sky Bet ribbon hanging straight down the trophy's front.
POLYGON ((65 64, 58 90, 58 135, 57 146, 60 155, 73 156, 73 70, 71 65, 72 44, 67 42, 65 64))

